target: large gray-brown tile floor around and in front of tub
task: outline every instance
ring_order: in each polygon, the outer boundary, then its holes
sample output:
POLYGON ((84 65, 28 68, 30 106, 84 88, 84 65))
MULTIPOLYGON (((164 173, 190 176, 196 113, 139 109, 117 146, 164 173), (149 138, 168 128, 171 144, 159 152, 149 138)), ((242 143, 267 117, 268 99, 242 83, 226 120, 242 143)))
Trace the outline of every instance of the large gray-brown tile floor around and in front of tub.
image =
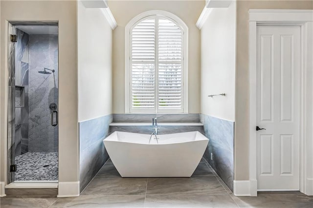
POLYGON ((191 178, 121 178, 109 160, 79 197, 3 197, 3 207, 82 208, 313 208, 300 192, 235 197, 206 161, 191 178))

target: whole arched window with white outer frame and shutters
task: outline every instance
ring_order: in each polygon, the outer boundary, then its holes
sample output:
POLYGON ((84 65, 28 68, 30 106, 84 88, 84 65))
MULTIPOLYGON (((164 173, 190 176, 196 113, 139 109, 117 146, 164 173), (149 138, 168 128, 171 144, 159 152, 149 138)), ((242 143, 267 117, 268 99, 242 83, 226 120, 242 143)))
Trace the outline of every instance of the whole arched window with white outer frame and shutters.
POLYGON ((125 112, 188 112, 188 27, 165 11, 125 28, 125 112))

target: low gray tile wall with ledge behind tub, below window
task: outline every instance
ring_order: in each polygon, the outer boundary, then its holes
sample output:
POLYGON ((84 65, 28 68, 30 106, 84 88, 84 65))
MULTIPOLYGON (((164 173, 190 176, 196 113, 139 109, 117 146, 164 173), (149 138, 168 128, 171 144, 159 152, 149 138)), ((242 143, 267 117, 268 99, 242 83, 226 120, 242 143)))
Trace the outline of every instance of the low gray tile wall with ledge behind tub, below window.
POLYGON ((152 133, 152 119, 157 118, 161 125, 158 134, 170 134, 188 131, 203 133, 199 114, 114 114, 110 132, 125 131, 141 134, 152 133), (136 123, 133 124, 132 123, 136 123), (166 124, 167 123, 167 124, 166 124), (176 124, 171 124, 176 123, 176 124))

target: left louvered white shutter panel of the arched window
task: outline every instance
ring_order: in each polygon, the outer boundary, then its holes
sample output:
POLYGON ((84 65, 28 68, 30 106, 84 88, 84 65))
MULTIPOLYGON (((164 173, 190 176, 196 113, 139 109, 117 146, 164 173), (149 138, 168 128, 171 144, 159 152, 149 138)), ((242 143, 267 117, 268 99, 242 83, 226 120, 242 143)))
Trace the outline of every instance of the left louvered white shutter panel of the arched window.
POLYGON ((132 31, 132 108, 156 107, 155 19, 139 22, 132 31))

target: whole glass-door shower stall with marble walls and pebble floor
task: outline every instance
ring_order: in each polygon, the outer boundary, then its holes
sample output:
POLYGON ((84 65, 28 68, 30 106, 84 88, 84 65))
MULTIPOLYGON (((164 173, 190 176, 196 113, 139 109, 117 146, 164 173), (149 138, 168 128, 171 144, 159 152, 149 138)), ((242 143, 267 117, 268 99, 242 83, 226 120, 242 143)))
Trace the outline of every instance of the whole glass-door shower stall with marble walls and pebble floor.
POLYGON ((9 26, 8 184, 58 180, 58 25, 9 26))

